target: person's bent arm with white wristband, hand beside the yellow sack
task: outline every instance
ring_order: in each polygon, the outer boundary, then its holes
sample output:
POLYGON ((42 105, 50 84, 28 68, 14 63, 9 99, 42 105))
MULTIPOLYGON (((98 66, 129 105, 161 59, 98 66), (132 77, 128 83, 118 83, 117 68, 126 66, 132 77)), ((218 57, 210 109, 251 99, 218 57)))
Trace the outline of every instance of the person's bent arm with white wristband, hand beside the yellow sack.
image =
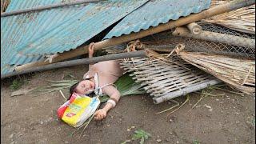
POLYGON ((106 86, 103 88, 103 93, 110 96, 110 101, 106 102, 106 105, 101 109, 97 110, 94 114, 96 120, 102 120, 106 118, 107 112, 114 108, 119 101, 121 94, 114 86, 106 86))

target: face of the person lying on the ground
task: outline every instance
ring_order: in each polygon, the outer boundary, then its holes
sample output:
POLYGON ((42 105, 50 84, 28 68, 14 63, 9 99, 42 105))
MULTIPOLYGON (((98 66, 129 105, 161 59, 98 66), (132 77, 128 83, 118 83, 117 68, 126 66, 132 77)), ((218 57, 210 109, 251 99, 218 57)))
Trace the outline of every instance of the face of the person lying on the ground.
POLYGON ((75 89, 77 94, 90 94, 94 90, 94 82, 89 80, 83 80, 78 83, 78 86, 75 89))

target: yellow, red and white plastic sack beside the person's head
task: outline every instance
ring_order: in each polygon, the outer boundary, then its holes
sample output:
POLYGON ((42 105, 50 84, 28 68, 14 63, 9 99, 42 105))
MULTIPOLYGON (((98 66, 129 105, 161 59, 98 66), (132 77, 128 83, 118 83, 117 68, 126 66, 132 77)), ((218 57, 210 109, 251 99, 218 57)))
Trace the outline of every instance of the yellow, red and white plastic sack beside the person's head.
POLYGON ((98 97, 90 98, 72 94, 69 101, 65 102, 57 110, 58 118, 70 126, 81 126, 94 112, 100 104, 98 97))

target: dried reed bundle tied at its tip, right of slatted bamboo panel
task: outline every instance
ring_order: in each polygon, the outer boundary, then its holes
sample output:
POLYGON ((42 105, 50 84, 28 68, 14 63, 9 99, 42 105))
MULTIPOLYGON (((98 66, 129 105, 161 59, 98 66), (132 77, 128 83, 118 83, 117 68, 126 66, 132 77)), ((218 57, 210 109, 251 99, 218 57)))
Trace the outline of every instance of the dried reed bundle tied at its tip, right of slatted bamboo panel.
POLYGON ((177 54, 186 62, 214 75, 231 87, 245 94, 255 93, 255 62, 229 58, 222 55, 182 51, 184 45, 176 46, 177 54))

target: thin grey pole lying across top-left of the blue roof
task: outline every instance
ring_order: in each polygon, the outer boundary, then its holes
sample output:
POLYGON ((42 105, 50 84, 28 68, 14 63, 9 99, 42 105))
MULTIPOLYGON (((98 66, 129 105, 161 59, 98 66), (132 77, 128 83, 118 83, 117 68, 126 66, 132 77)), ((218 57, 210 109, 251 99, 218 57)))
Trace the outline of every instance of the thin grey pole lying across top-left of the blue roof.
POLYGON ((7 17, 11 15, 17 15, 17 14, 24 14, 24 13, 29 13, 33 11, 41 11, 41 10, 50 10, 58 7, 63 7, 63 6, 74 6, 74 5, 80 5, 84 3, 89 3, 89 2, 99 2, 102 0, 82 0, 78 2, 63 2, 63 3, 57 3, 57 4, 52 4, 52 5, 47 5, 47 6, 38 6, 38 7, 33 7, 30 9, 24 9, 24 10, 14 10, 10 12, 5 12, 1 13, 1 17, 7 17))

